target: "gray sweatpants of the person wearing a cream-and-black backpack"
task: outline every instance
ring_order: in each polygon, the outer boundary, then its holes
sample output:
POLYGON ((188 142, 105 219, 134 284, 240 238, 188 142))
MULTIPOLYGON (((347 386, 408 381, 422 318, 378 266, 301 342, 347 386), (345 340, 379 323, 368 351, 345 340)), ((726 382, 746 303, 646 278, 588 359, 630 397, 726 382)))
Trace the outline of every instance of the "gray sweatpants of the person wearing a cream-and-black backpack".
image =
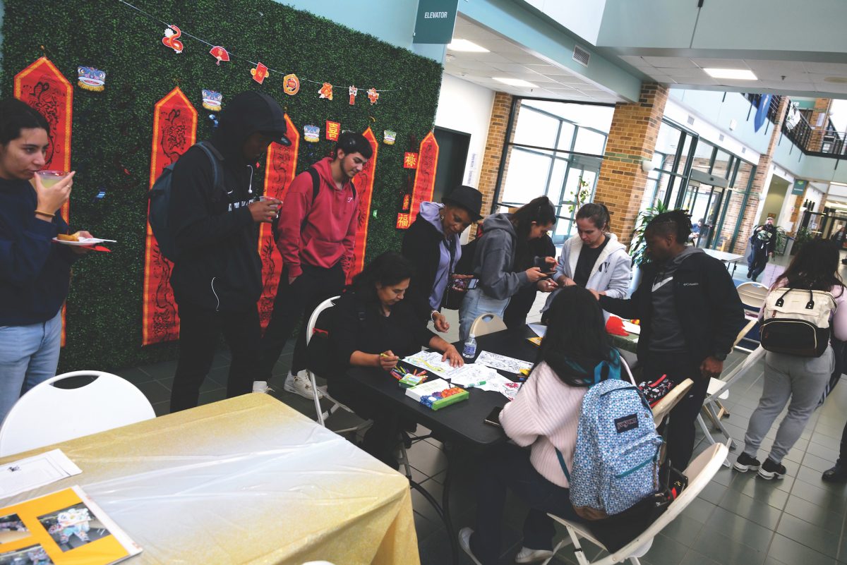
POLYGON ((765 386, 759 406, 747 425, 744 453, 756 457, 761 440, 790 398, 788 414, 779 425, 768 456, 774 463, 781 463, 800 439, 805 423, 817 407, 834 369, 832 347, 828 347, 820 357, 797 357, 768 351, 765 354, 765 386))

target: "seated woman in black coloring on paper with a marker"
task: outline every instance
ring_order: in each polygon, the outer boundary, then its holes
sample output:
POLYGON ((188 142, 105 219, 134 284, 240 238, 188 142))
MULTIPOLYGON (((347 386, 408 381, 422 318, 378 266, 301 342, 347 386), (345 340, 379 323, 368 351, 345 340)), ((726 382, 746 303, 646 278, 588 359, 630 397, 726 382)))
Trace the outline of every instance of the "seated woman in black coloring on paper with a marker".
POLYGON ((345 373, 350 367, 374 367, 386 371, 379 378, 393 379, 387 371, 424 346, 442 352, 441 359, 454 367, 463 364, 456 348, 430 332, 414 306, 403 300, 413 271, 399 253, 379 255, 338 300, 329 332, 330 350, 338 364, 335 378, 329 379, 329 394, 360 417, 374 420, 362 448, 395 469, 399 417, 381 409, 368 392, 348 381, 345 373))

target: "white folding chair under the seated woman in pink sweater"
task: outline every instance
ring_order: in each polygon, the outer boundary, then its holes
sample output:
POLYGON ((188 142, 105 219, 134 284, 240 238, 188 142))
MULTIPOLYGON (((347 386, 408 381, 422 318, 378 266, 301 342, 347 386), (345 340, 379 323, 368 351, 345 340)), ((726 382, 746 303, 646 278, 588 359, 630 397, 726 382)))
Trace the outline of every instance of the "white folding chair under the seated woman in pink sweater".
MULTIPOLYGON (((555 556, 556 552, 562 549, 562 547, 570 546, 573 543, 573 555, 577 562, 579 562, 579 565, 612 565, 612 563, 620 563, 626 560, 629 560, 632 565, 640 565, 639 557, 644 556, 650 550, 656 534, 661 532, 667 524, 673 522, 674 518, 677 518, 685 507, 693 502, 697 495, 706 488, 706 485, 709 484, 709 481, 715 476, 718 469, 721 468, 722 461, 727 458, 727 453, 727 447, 722 443, 717 443, 707 448, 703 453, 700 453, 691 462, 688 469, 685 469, 685 476, 689 480, 688 486, 677 496, 676 500, 668 505, 667 510, 653 524, 650 524, 650 527, 645 529, 644 532, 630 541, 626 546, 596 561, 588 560, 580 541, 589 540, 603 550, 606 550, 606 547, 591 534, 590 529, 585 524, 577 524, 550 514, 551 518, 567 528, 567 534, 569 536, 569 539, 559 542, 553 550, 553 555, 555 556)), ((546 565, 551 562, 552 559, 553 557, 550 557, 544 564, 546 565)))

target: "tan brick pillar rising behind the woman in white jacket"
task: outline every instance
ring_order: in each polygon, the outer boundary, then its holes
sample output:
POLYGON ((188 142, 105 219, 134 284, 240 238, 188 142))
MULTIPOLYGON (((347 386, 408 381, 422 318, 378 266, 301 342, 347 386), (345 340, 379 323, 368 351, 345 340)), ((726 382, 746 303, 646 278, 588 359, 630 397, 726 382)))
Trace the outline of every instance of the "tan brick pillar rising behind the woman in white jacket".
POLYGON ((615 106, 594 200, 608 206, 624 245, 632 238, 647 184, 641 162, 653 157, 666 102, 667 86, 644 83, 639 101, 615 106))

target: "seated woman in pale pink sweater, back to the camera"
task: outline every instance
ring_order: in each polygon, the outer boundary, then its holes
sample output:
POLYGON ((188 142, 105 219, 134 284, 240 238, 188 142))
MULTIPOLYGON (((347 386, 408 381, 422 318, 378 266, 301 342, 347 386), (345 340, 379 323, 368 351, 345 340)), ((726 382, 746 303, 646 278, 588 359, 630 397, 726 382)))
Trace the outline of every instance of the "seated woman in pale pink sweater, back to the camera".
POLYGON ((530 508, 516 562, 551 557, 555 532, 547 513, 580 519, 571 506, 559 453, 571 468, 583 397, 598 365, 608 378, 620 376, 617 349, 609 341, 600 306, 591 304, 591 298, 579 286, 556 294, 534 369, 500 413, 503 431, 517 445, 503 444, 486 454, 480 464, 484 472, 477 475, 476 525, 459 531, 459 544, 477 565, 499 562, 507 489, 530 508))

